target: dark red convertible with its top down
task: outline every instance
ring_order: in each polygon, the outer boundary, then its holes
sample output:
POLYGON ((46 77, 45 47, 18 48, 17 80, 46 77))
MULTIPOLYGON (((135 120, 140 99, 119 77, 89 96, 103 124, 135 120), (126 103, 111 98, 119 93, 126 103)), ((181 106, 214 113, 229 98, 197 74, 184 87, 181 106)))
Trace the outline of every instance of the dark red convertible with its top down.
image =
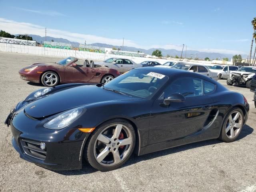
POLYGON ((35 63, 19 71, 20 78, 52 87, 58 83, 106 83, 120 75, 117 70, 75 57, 59 62, 35 63))

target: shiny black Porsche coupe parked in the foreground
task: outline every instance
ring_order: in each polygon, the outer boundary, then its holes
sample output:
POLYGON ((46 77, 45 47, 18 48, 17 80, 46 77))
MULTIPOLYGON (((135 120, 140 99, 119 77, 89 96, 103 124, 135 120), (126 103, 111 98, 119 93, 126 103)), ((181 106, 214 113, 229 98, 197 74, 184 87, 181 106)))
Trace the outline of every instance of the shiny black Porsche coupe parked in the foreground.
POLYGON ((53 170, 108 171, 138 155, 192 142, 236 140, 248 118, 240 93, 184 70, 143 67, 107 84, 33 92, 6 119, 20 157, 53 170))

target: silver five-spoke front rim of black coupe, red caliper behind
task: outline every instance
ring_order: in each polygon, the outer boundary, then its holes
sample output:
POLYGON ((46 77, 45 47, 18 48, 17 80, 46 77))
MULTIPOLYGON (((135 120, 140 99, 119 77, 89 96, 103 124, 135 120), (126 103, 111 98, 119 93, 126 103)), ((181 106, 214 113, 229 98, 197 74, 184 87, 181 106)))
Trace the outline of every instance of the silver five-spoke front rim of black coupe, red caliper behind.
POLYGON ((103 166, 114 166, 128 156, 132 142, 132 133, 124 124, 112 124, 98 135, 94 158, 103 166), (121 135, 125 138, 120 139, 121 135))

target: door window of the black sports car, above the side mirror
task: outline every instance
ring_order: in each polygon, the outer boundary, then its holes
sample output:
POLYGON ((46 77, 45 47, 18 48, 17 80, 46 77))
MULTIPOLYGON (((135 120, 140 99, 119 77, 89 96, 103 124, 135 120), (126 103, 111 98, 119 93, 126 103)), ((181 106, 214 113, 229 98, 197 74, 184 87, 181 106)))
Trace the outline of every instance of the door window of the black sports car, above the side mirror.
POLYGON ((194 77, 184 77, 175 80, 170 86, 164 90, 164 98, 168 98, 170 94, 178 92, 184 97, 196 97, 203 94, 203 80, 194 77))

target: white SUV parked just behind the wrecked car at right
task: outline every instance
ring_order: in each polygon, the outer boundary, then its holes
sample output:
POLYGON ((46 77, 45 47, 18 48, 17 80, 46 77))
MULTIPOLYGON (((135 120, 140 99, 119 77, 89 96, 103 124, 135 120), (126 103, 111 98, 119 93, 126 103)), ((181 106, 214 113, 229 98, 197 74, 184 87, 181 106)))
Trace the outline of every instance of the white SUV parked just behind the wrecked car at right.
POLYGON ((228 78, 230 72, 238 70, 238 66, 214 65, 210 68, 212 72, 218 73, 218 79, 228 78))

